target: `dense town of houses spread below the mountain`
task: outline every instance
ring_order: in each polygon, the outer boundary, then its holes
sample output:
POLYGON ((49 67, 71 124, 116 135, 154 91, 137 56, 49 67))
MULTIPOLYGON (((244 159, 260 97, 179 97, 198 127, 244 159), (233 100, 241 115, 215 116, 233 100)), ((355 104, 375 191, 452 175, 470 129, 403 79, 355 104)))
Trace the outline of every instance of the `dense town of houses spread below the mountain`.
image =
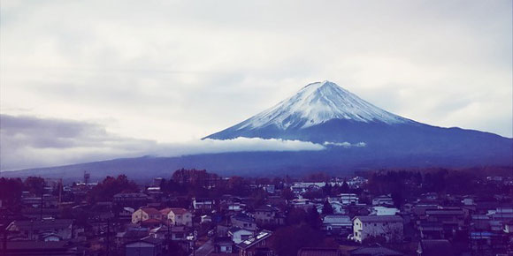
MULTIPOLYGON (((195 178, 180 174, 183 182, 195 178)), ((326 184, 341 185, 341 180, 334 180, 279 187, 254 184, 252 189, 265 192, 264 200, 256 204, 255 198, 228 194, 218 198, 165 194, 158 185, 161 182, 162 178, 156 178, 141 192, 118 193, 111 201, 94 203, 63 202, 50 191, 40 197, 24 192, 19 215, 8 207, 0 208, 4 223, 0 252, 102 255, 107 250, 111 255, 158 256, 172 250, 188 255, 203 248, 198 255, 271 256, 276 255, 274 230, 287 225, 291 209, 317 211, 320 230, 340 244, 338 248, 305 247, 298 256, 409 255, 402 249, 412 246, 415 251, 410 255, 512 252, 513 204, 508 194, 490 199, 425 193, 400 205, 390 194, 341 192, 305 197, 326 184), (292 198, 282 196, 284 188, 293 193, 292 198), (89 217, 80 218, 85 213, 89 217), (95 251, 95 246, 101 249, 95 251)), ((366 179, 354 177, 343 183, 356 189, 366 179)), ((80 197, 95 185, 73 184, 63 192, 80 197)))

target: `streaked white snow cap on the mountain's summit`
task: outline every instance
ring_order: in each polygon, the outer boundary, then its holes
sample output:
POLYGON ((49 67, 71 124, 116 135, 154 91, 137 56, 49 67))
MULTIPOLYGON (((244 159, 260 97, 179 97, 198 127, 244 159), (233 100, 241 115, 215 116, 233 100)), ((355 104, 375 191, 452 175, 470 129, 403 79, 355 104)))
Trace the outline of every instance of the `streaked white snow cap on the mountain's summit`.
POLYGON ((268 125, 282 130, 306 128, 332 119, 386 124, 412 122, 365 102, 333 82, 324 81, 302 87, 292 97, 236 125, 236 130, 252 130, 268 125))

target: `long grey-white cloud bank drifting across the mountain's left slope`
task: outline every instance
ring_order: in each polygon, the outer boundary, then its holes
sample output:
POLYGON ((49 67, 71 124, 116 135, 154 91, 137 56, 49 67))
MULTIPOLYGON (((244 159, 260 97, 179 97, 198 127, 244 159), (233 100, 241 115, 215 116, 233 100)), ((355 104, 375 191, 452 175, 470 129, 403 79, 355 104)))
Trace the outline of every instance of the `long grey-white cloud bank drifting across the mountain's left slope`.
POLYGON ((157 143, 121 137, 102 124, 66 119, 0 115, 0 169, 25 169, 142 155, 180 156, 237 151, 324 150, 298 140, 195 139, 157 143))

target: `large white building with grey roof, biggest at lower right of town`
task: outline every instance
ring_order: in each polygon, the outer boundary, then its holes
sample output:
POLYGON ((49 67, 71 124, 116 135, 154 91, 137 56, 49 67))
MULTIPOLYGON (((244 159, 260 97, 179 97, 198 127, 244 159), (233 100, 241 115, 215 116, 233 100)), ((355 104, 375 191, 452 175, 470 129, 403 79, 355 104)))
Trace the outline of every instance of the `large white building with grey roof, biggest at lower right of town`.
POLYGON ((353 236, 359 243, 369 237, 385 237, 387 241, 401 241, 402 227, 402 217, 398 215, 353 218, 353 236))

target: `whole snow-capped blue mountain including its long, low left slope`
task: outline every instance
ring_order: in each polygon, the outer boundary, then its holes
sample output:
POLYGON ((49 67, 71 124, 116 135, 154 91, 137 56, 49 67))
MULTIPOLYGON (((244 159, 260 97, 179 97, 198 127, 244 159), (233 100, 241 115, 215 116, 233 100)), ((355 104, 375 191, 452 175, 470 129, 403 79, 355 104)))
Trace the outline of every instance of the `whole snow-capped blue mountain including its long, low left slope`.
MULTIPOLYGON (((461 128, 442 128, 394 115, 324 81, 312 83, 271 109, 203 139, 292 139, 318 151, 249 151, 140 157, 9 172, 12 176, 91 177, 126 174, 168 177, 175 169, 221 175, 302 175, 325 171, 409 168, 513 167, 513 139, 461 128)), ((5 176, 5 174, 4 174, 5 176)))

